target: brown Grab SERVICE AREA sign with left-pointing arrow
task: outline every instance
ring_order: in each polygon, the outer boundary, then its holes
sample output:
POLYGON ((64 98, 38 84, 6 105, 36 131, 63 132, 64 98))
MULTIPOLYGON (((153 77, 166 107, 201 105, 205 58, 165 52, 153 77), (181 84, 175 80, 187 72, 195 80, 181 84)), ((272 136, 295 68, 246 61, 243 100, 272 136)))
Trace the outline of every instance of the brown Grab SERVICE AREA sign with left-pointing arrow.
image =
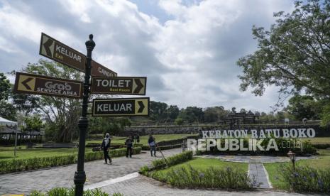
POLYGON ((80 99, 82 98, 82 87, 82 82, 75 80, 16 72, 13 91, 16 93, 80 99))

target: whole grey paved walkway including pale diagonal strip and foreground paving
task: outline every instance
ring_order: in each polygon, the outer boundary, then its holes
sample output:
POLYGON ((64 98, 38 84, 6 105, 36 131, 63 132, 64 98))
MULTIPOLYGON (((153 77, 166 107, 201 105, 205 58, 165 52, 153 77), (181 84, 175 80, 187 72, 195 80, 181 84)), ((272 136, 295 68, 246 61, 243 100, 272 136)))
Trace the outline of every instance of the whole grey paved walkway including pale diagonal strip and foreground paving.
MULTIPOLYGON (((163 151, 165 156, 172 156, 180 153, 181 149, 176 148, 163 151)), ((158 158, 160 153, 158 153, 158 158)), ((121 192, 123 195, 299 195, 287 192, 253 191, 237 192, 224 190, 188 190, 169 187, 165 183, 146 178, 137 173, 143 165, 150 164, 156 158, 150 153, 135 155, 133 158, 114 158, 113 165, 103 164, 104 160, 97 160, 85 163, 87 182, 85 188, 101 187, 109 193, 121 192)), ((28 194, 32 190, 50 190, 53 187, 72 187, 73 175, 77 165, 67 165, 58 168, 34 170, 24 173, 13 173, 0 175, 0 195, 28 194)), ((259 169, 256 167, 255 169, 259 169)), ((251 168, 252 170, 253 168, 251 168)))

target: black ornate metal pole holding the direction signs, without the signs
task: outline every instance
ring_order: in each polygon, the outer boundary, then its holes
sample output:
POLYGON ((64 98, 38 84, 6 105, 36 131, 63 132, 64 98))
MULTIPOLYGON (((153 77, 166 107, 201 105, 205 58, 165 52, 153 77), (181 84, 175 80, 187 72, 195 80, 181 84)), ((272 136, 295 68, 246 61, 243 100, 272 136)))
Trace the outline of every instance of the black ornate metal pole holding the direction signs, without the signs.
POLYGON ((89 40, 85 43, 87 48, 87 62, 86 70, 84 76, 84 95, 82 98, 82 116, 79 118, 79 151, 78 151, 78 164, 77 171, 75 173, 74 182, 75 182, 75 195, 82 196, 84 191, 84 182, 86 181, 86 173, 84 172, 84 148, 85 148, 85 139, 86 131, 88 127, 87 119, 87 109, 88 109, 88 97, 89 97, 89 78, 91 76, 91 62, 92 62, 92 51, 95 47, 93 40, 93 35, 89 35, 89 40))

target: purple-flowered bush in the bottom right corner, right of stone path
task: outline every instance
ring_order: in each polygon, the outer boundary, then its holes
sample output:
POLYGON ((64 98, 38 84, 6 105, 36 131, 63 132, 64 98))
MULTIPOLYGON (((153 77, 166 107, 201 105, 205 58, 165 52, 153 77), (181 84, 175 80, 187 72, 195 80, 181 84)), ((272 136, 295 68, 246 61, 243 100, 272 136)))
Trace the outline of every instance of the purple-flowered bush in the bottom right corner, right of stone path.
POLYGON ((290 166, 284 166, 280 173, 290 190, 330 193, 330 170, 317 170, 306 166, 297 166, 293 170, 290 166))

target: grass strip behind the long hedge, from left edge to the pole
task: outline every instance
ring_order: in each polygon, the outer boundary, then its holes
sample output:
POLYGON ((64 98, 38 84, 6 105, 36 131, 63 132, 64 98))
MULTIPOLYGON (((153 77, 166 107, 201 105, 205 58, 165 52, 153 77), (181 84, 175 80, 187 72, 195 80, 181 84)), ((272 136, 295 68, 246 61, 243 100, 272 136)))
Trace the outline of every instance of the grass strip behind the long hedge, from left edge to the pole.
MULTIPOLYGON (((77 154, 78 148, 29 148, 26 146, 18 146, 16 158, 34 158, 34 157, 50 157, 50 156, 63 156, 72 153, 77 154)), ((14 158, 14 147, 0 147, 0 160, 14 158)), ((91 152, 92 148, 86 148, 86 152, 91 152)))

